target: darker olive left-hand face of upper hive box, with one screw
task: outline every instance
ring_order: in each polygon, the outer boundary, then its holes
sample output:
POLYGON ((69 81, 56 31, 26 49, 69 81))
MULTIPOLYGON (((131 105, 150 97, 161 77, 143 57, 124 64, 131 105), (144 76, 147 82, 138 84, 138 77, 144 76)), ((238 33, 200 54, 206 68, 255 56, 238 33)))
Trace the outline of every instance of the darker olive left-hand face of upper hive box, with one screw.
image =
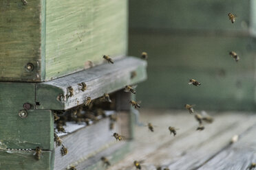
POLYGON ((1 0, 0 81, 40 81, 41 59, 41 0, 1 0), (32 72, 25 69, 28 63, 32 72))

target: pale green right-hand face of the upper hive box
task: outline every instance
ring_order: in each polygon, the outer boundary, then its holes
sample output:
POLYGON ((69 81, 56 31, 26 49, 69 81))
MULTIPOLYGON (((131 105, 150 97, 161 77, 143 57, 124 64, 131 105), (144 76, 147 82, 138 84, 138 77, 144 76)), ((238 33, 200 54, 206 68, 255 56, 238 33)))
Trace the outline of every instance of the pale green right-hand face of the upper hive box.
POLYGON ((127 53, 127 0, 47 1, 46 19, 46 80, 127 53))

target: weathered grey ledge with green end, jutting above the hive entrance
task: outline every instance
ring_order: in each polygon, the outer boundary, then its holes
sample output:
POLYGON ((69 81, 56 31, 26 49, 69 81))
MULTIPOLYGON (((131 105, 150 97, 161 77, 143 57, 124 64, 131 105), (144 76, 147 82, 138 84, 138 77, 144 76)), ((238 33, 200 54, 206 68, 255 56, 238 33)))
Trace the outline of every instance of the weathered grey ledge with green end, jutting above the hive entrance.
POLYGON ((124 88, 127 84, 136 84, 147 78, 147 63, 136 58, 123 58, 114 64, 103 64, 86 71, 61 77, 57 80, 36 84, 36 101, 39 109, 67 110, 83 104, 87 97, 96 99, 104 93, 124 88), (131 78, 131 72, 137 76, 131 78), (79 90, 78 83, 85 82, 87 90, 79 90), (74 95, 67 97, 67 87, 72 86, 74 95), (59 99, 63 96, 63 101, 59 99))

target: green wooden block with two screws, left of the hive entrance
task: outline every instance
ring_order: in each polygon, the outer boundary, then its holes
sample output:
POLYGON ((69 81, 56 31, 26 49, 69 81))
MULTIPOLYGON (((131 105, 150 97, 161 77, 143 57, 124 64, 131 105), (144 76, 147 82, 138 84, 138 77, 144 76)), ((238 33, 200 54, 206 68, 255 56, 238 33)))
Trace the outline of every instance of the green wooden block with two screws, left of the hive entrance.
POLYGON ((0 83, 1 149, 53 149, 54 121, 50 110, 34 110, 35 84, 0 83), (21 119, 19 111, 29 103, 28 117, 21 119))

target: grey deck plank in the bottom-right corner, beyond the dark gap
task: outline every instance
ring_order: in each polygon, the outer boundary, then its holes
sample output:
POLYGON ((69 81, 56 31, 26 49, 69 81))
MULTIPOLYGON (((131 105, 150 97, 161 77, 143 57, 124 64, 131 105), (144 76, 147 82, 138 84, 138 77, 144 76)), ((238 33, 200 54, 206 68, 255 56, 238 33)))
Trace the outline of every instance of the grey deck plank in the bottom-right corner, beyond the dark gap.
POLYGON ((237 143, 223 149, 199 169, 248 169, 251 163, 256 162, 255 134, 256 125, 253 125, 239 136, 237 143))

